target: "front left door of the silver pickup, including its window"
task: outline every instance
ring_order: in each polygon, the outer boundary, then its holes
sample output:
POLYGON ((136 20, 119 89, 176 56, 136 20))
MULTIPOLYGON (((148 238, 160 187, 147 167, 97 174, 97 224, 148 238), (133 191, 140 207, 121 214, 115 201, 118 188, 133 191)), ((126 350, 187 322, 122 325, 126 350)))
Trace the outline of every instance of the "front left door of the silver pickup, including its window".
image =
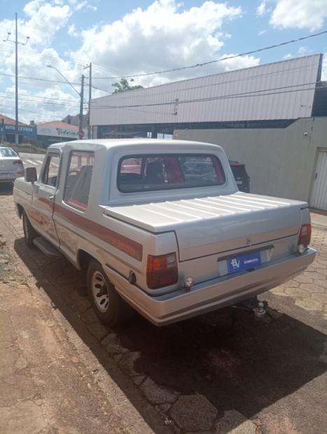
POLYGON ((46 156, 39 180, 34 183, 33 211, 29 218, 36 230, 58 247, 59 241, 53 221, 55 192, 59 181, 60 153, 51 151, 46 156))

